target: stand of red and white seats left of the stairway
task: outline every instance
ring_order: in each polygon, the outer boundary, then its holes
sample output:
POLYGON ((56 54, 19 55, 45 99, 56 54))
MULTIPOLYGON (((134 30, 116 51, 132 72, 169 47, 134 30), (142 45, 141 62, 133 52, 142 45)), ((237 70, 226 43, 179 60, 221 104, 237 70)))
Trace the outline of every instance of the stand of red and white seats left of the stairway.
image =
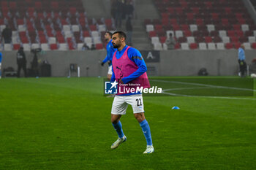
POLYGON ((6 25, 12 29, 12 42, 1 42, 2 50, 79 50, 78 44, 85 42, 101 50, 105 31, 116 29, 112 18, 87 18, 81 0, 1 1, 0 31, 6 25))

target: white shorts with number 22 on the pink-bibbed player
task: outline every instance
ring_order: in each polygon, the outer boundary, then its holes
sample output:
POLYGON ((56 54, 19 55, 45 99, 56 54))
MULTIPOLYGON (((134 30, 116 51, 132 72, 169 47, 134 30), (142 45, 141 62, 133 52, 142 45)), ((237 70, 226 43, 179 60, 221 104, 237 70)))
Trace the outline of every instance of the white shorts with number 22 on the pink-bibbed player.
POLYGON ((128 104, 132 106, 133 113, 144 112, 144 104, 142 94, 130 96, 115 96, 111 113, 113 115, 125 115, 127 113, 128 104))

